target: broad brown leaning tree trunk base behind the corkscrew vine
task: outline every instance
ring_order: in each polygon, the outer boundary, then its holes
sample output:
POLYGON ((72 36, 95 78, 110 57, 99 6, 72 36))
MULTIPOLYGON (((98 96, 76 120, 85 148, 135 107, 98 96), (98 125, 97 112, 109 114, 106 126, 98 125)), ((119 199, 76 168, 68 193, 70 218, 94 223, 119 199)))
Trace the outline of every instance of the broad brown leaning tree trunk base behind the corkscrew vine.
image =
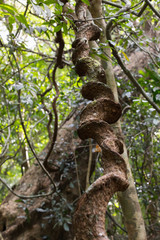
MULTIPOLYGON (((81 107, 61 127, 57 144, 49 161, 58 166, 58 171, 51 172, 60 196, 53 193, 50 196, 25 199, 17 202, 18 197, 9 193, 0 205, 0 233, 5 240, 73 240, 72 225, 69 232, 58 220, 69 217, 71 209, 76 206, 77 199, 85 190, 86 173, 88 169, 88 142, 75 136, 77 113, 81 107)), ((43 161, 49 146, 39 155, 43 161)), ((91 174, 97 153, 92 153, 91 174)), ((50 180, 35 162, 25 173, 14 191, 21 195, 47 194, 52 191, 50 180)))

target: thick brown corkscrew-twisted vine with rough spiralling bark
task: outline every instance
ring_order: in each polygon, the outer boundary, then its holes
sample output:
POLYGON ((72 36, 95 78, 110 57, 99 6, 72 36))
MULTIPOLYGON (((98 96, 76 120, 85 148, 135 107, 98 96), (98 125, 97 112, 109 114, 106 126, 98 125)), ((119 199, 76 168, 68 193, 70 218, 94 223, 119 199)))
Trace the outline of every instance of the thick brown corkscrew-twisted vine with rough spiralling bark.
POLYGON ((100 37, 100 29, 86 21, 87 8, 84 2, 77 1, 77 31, 72 45, 72 60, 77 74, 91 80, 81 90, 82 96, 92 102, 81 112, 78 135, 81 139, 95 139, 101 147, 104 175, 80 198, 73 223, 76 240, 107 240, 107 204, 115 192, 127 189, 127 167, 121 157, 123 143, 110 126, 120 118, 121 106, 114 101, 112 90, 105 84, 106 75, 101 64, 89 56, 89 41, 100 37))

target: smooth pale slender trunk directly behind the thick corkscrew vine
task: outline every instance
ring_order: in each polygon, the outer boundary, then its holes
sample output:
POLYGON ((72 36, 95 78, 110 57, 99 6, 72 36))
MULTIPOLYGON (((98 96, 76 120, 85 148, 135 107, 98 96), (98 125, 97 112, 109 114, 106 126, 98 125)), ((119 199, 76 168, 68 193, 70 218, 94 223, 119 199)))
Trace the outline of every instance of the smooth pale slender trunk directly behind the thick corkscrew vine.
MULTIPOLYGON (((102 3, 101 0, 92 1, 90 9, 91 9, 93 18, 99 18, 102 16, 101 3, 102 3)), ((106 37, 105 37, 106 23, 103 19, 97 20, 96 23, 98 26, 103 28, 101 42, 106 43, 106 37)), ((111 55, 110 49, 107 49, 106 53, 108 56, 110 56, 111 55)), ((105 72, 107 75, 107 84, 111 88, 114 94, 114 97, 118 102, 118 93, 117 93, 117 87, 116 87, 116 82, 114 78, 112 63, 109 60, 107 64, 102 62, 102 65, 106 67, 105 72)), ((119 135, 121 135, 121 138, 123 139, 120 121, 118 121, 115 124, 115 129, 116 129, 116 132, 119 135)), ((144 220, 143 220, 140 204, 138 201, 136 188, 134 185, 133 176, 131 173, 131 167, 129 164, 125 143, 124 143, 124 153, 122 154, 122 156, 125 159, 125 162, 127 164, 129 187, 125 192, 118 193, 118 196, 119 196, 119 201, 122 206, 122 210, 124 214, 125 226, 128 232, 128 237, 130 240, 146 240, 147 237, 146 237, 144 220)))

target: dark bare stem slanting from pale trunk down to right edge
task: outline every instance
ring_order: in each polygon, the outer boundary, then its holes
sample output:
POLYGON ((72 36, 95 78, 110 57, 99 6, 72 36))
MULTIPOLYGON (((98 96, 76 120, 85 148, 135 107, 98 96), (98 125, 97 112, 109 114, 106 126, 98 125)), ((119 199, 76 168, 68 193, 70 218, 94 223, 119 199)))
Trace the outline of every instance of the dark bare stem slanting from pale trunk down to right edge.
POLYGON ((160 113, 160 108, 157 106, 157 104, 155 104, 152 99, 147 95, 147 93, 144 91, 144 89, 140 86, 140 84, 137 82, 137 80, 134 78, 134 76, 131 74, 131 72, 126 68, 126 66, 124 65, 124 63, 122 62, 117 49, 115 48, 115 46, 112 44, 112 39, 111 39, 111 35, 110 35, 110 31, 113 25, 113 19, 111 19, 107 26, 106 26, 106 38, 109 42, 109 45, 112 49, 112 53, 114 55, 114 57, 117 59, 118 64, 120 65, 120 67, 123 69, 124 73, 127 75, 127 77, 130 79, 130 81, 134 84, 134 86, 137 88, 137 90, 143 95, 143 97, 152 105, 152 107, 154 109, 156 109, 156 111, 158 113, 160 113))

